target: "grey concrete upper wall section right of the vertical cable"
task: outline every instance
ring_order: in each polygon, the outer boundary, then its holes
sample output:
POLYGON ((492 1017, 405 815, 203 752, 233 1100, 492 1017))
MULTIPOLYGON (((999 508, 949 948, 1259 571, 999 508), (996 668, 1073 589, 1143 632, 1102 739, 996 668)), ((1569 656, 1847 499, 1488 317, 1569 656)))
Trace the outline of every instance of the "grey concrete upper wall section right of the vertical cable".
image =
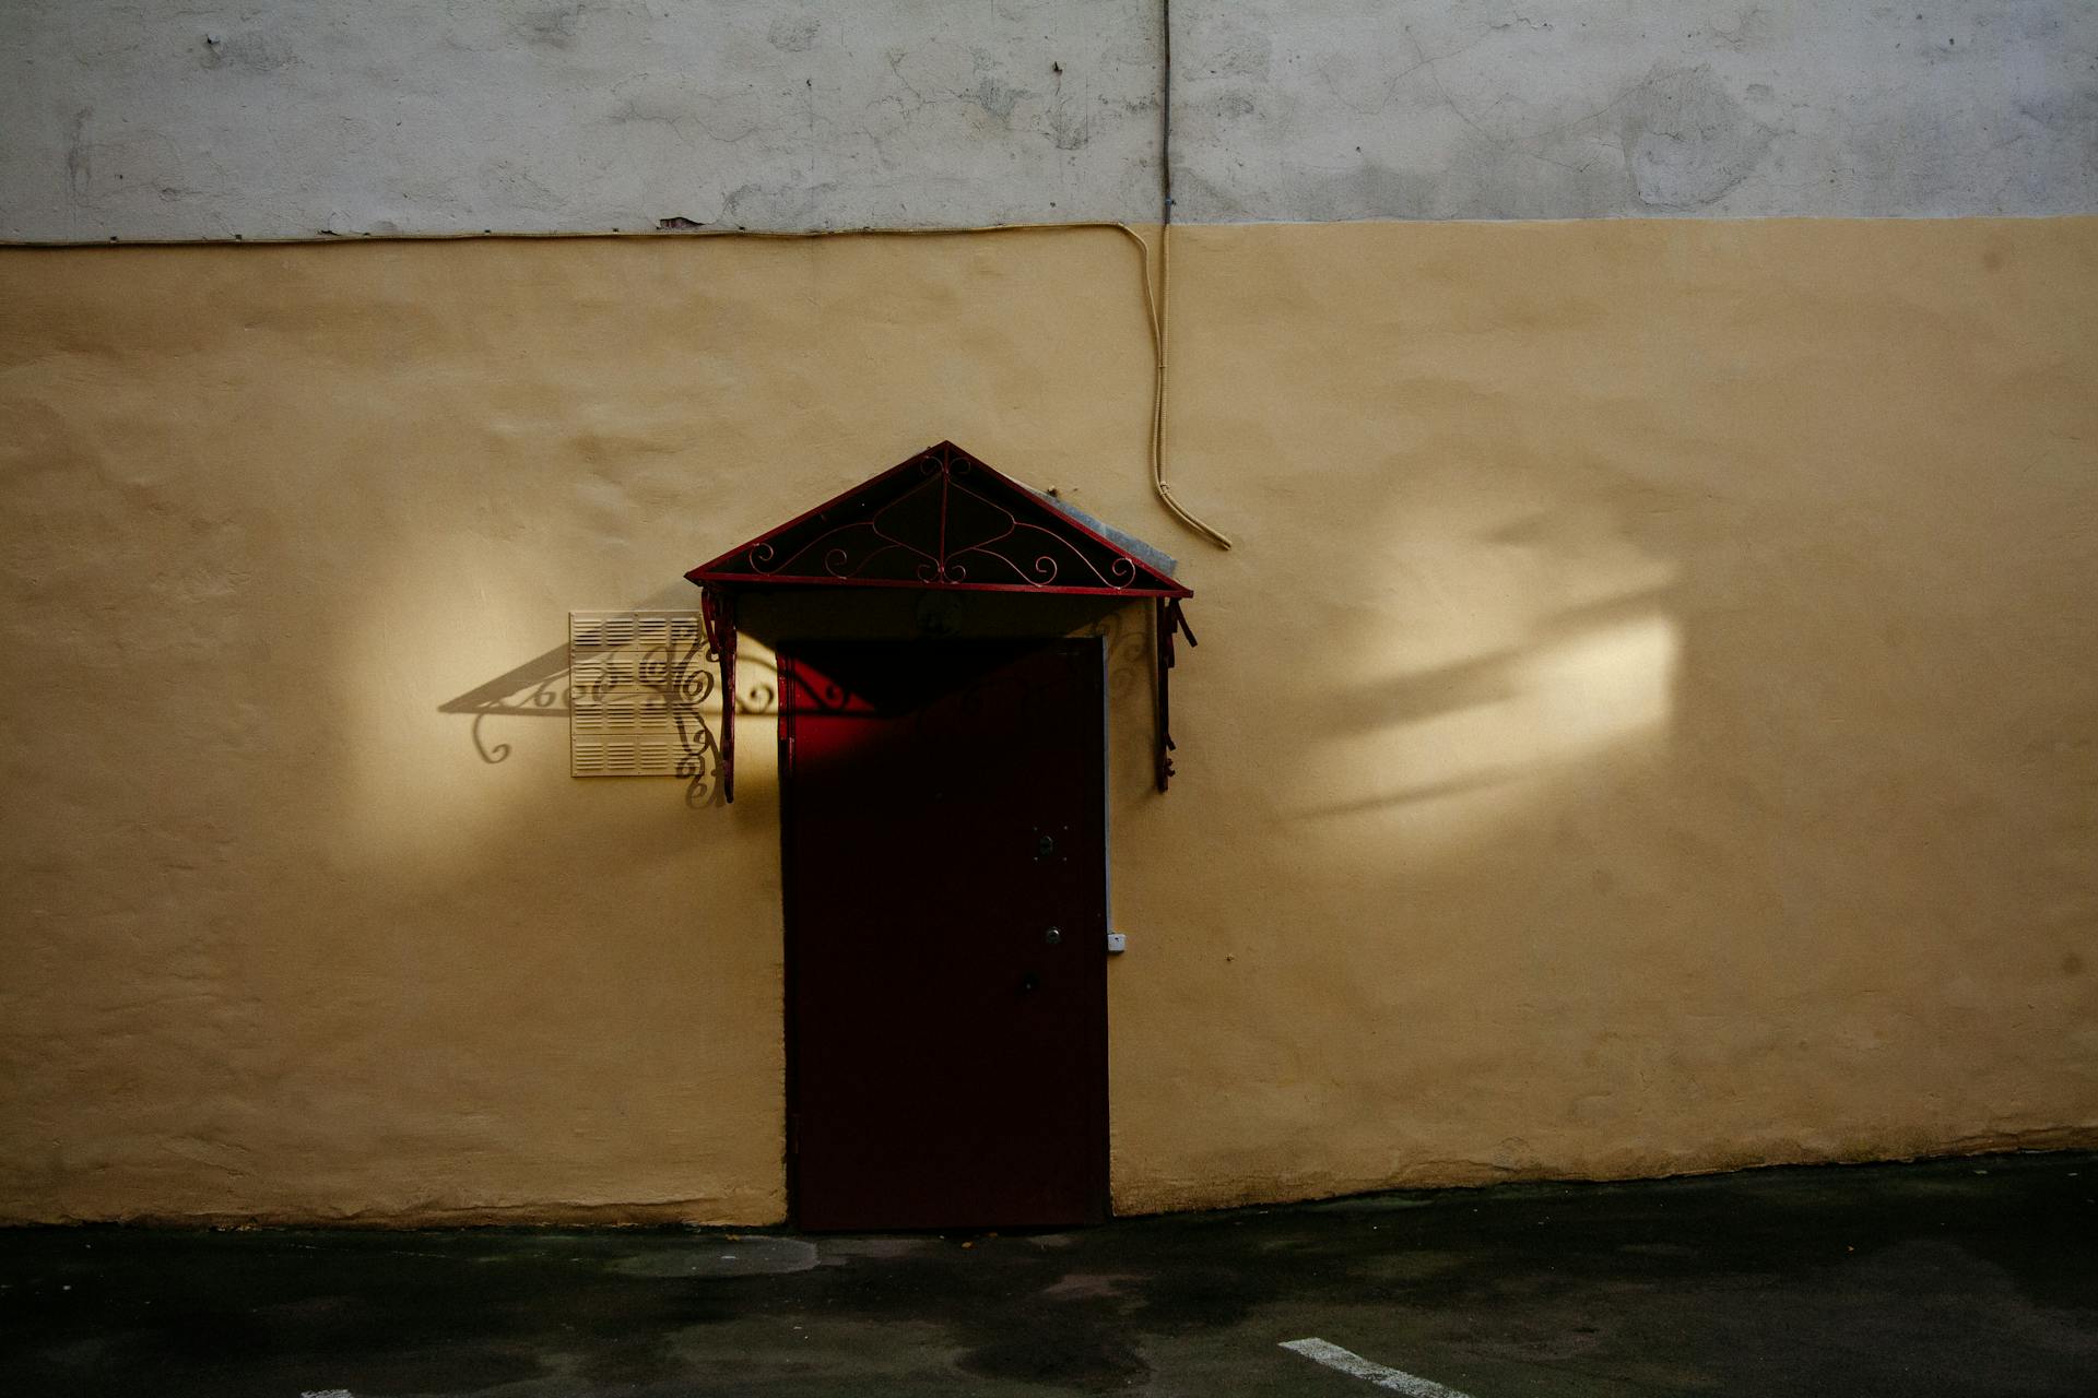
POLYGON ((1192 220, 2098 207, 2092 0, 1175 13, 1192 220))

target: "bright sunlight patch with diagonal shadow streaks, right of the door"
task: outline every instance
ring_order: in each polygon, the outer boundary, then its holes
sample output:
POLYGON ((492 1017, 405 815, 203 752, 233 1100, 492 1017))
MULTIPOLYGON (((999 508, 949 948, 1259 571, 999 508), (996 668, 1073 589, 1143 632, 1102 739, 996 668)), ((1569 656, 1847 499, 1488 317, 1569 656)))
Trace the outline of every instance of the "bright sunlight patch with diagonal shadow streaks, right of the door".
POLYGON ((1674 721, 1678 564, 1624 501, 1527 457, 1410 482, 1297 773, 1294 813, 1339 822, 1343 861, 1469 849, 1567 782, 1643 769, 1674 721))

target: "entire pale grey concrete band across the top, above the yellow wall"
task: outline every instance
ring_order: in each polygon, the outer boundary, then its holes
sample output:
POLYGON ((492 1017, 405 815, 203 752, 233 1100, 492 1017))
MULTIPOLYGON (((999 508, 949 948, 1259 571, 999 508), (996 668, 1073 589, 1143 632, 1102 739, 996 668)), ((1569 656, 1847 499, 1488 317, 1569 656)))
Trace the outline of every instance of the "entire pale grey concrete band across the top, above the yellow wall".
MULTIPOLYGON (((1156 218, 1158 0, 0 0, 0 237, 1156 218)), ((2098 210, 2090 0, 1179 0, 1179 216, 2098 210)))

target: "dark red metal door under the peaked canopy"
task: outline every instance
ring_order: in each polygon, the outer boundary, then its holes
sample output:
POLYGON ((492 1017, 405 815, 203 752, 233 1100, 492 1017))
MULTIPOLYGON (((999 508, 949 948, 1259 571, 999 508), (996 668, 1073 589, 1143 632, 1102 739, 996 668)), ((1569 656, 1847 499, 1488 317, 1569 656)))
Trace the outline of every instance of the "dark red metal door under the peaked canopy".
POLYGON ((1099 641, 804 643, 780 685, 795 1222, 1099 1222, 1099 641))

